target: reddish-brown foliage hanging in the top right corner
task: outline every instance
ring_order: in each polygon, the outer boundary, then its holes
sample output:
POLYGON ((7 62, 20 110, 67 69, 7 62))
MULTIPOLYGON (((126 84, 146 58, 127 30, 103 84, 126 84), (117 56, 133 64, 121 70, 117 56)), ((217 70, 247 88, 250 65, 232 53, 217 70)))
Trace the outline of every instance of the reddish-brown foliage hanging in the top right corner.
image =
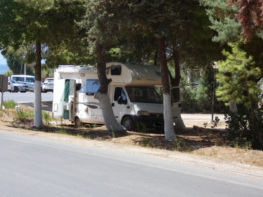
POLYGON ((236 19, 242 24, 241 34, 245 36, 244 43, 248 43, 253 31, 263 26, 263 0, 229 0, 228 5, 238 6, 236 19))

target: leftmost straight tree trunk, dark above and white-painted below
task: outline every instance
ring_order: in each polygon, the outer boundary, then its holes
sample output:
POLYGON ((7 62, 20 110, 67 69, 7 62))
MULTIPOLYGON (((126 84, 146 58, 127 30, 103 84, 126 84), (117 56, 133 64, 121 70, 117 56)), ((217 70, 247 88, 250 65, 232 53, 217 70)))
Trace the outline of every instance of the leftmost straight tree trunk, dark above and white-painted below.
POLYGON ((34 127, 42 127, 42 108, 41 108, 41 43, 36 40, 36 65, 35 85, 34 85, 34 127))

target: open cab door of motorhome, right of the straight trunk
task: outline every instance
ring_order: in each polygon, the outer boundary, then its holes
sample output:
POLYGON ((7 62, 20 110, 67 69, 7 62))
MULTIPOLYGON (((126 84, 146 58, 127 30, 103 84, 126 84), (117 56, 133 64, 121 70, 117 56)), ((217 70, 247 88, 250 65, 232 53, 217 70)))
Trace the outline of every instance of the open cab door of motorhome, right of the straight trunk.
POLYGON ((181 119, 181 94, 180 87, 171 88, 171 98, 172 98, 172 116, 174 122, 179 122, 181 119))

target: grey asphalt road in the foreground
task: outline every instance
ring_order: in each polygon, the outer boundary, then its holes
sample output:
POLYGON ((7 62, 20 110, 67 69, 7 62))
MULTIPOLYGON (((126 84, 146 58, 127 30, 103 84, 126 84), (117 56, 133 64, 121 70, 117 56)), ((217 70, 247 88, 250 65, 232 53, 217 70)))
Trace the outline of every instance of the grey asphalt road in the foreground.
POLYGON ((263 180, 0 132, 0 196, 262 196, 263 180))

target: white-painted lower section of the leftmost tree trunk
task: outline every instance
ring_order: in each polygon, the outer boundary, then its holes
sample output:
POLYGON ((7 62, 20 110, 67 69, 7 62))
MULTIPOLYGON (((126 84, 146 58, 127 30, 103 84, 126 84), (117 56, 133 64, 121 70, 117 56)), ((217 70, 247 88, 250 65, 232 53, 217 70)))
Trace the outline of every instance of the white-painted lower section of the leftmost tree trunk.
POLYGON ((42 127, 42 108, 41 108, 41 81, 35 81, 34 86, 34 126, 42 127))

